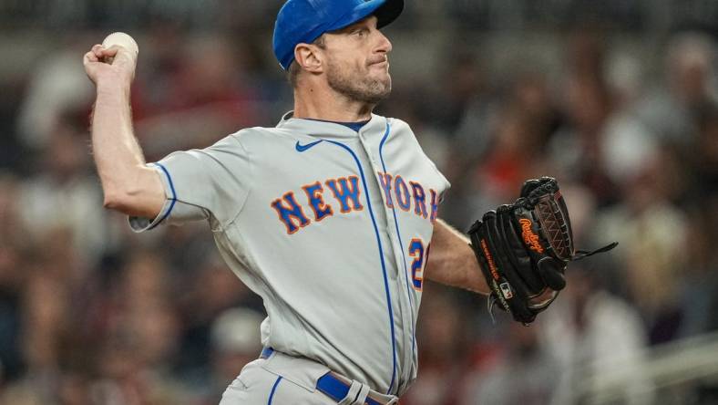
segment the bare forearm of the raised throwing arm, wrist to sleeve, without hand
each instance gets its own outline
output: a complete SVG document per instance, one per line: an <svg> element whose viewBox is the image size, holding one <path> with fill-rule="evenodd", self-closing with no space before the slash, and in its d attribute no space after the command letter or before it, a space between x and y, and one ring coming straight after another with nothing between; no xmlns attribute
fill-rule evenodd
<svg viewBox="0 0 718 405"><path fill-rule="evenodd" d="M105 193L105 206L123 213L151 217L159 201L153 196L157 175L145 167L145 159L132 130L129 87L115 81L97 83L93 111L92 149ZM161 203L159 205L161 207Z"/></svg>

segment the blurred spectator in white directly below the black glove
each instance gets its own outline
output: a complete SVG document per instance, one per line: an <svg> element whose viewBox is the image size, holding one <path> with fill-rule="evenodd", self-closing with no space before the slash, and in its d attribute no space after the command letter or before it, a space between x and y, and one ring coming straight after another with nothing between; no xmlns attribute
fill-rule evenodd
<svg viewBox="0 0 718 405"><path fill-rule="evenodd" d="M590 401L594 379L621 368L628 380L621 403L651 404L651 382L642 374L647 340L641 318L627 303L606 292L597 268L574 264L567 288L539 320L542 345L559 362L551 404Z"/></svg>

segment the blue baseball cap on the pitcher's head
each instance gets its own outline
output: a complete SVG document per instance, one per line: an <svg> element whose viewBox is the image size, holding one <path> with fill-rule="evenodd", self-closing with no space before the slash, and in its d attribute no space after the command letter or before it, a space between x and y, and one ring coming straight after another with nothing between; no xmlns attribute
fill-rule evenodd
<svg viewBox="0 0 718 405"><path fill-rule="evenodd" d="M287 70L297 44L311 44L323 33L376 16L377 27L388 25L404 9L404 0L288 0L274 22L274 56Z"/></svg>

